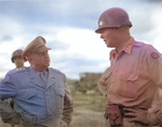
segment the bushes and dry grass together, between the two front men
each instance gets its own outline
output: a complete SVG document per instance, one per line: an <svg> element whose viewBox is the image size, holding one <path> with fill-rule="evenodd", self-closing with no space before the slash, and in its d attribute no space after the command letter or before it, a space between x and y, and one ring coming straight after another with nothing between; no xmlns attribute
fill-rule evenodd
<svg viewBox="0 0 162 127"><path fill-rule="evenodd" d="M109 127L104 118L106 97L97 88L98 78L83 78L68 85L71 90L75 110L70 127Z"/></svg>

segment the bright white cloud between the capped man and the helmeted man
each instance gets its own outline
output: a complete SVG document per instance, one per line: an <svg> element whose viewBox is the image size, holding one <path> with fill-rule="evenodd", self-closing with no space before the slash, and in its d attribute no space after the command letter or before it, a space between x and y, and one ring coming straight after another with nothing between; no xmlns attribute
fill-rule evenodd
<svg viewBox="0 0 162 127"><path fill-rule="evenodd" d="M64 27L59 28L55 39L70 47L62 51L51 50L51 65L69 77L79 78L80 72L104 72L109 65L110 49L93 30ZM103 63L107 64L103 66Z"/></svg>

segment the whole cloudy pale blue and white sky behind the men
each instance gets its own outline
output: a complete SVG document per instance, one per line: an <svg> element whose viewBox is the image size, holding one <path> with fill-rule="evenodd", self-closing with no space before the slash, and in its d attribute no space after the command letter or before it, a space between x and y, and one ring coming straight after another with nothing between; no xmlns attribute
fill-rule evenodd
<svg viewBox="0 0 162 127"><path fill-rule="evenodd" d="M129 13L135 40L162 52L162 0L0 0L0 77L15 67L12 52L25 49L37 36L52 48L50 66L67 78L103 73L112 49L95 30L100 14L113 7Z"/></svg>

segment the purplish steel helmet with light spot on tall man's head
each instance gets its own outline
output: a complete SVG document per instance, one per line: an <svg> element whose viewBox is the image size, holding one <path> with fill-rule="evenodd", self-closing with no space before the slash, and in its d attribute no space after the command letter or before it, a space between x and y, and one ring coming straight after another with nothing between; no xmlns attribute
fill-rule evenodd
<svg viewBox="0 0 162 127"><path fill-rule="evenodd" d="M102 28L120 27L123 25L132 27L132 23L130 22L126 11L121 8L111 8L103 12L98 20L98 29L95 31L100 33Z"/></svg>

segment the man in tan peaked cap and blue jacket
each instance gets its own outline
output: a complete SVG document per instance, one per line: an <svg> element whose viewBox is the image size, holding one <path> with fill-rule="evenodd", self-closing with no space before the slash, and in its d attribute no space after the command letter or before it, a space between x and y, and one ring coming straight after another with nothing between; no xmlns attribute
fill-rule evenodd
<svg viewBox="0 0 162 127"><path fill-rule="evenodd" d="M13 98L18 127L67 127L73 101L65 74L50 66L50 48L41 36L24 50L30 66L11 71L0 82L0 99Z"/></svg>

